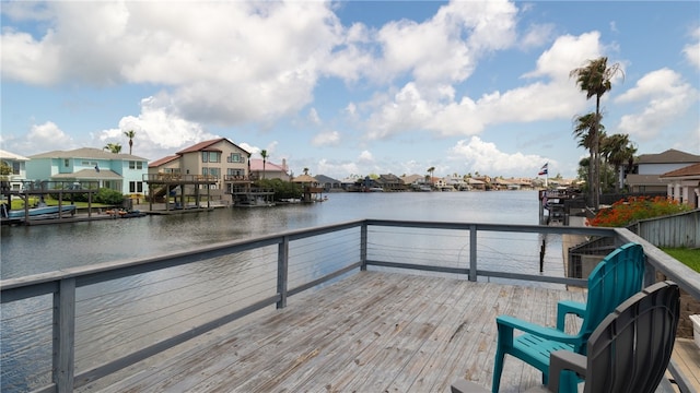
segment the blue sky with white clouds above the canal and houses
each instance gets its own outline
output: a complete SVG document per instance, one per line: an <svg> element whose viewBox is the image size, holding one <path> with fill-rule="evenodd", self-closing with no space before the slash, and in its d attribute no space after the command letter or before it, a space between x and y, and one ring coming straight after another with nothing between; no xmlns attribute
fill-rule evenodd
<svg viewBox="0 0 700 393"><path fill-rule="evenodd" d="M608 57L608 134L700 154L698 1L2 1L0 148L155 160L229 138L290 170L574 177Z"/></svg>

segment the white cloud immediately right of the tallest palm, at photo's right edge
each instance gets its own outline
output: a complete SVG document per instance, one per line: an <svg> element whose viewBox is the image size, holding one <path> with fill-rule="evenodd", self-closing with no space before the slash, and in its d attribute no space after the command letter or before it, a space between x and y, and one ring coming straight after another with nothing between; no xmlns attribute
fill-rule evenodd
<svg viewBox="0 0 700 393"><path fill-rule="evenodd" d="M661 69L642 76L634 87L618 96L616 103L641 103L637 112L625 115L618 130L632 139L648 141L692 105L697 105L698 91L682 81L680 74L669 69Z"/></svg>

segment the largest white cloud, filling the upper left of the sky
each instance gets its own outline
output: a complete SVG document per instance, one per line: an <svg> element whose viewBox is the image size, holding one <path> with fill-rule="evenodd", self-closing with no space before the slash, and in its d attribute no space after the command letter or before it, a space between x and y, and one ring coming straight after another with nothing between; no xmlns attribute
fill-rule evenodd
<svg viewBox="0 0 700 393"><path fill-rule="evenodd" d="M47 7L55 27L43 37L3 33L5 78L168 86L158 105L201 122L270 121L301 109L340 40L339 22L323 2Z"/></svg>

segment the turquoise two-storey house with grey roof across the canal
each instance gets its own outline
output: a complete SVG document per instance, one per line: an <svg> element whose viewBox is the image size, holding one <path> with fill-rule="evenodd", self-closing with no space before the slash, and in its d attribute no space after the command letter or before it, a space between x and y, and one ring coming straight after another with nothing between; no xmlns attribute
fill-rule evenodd
<svg viewBox="0 0 700 393"><path fill-rule="evenodd" d="M26 178L34 181L97 182L125 195L145 191L148 159L94 147L52 151L28 157Z"/></svg>

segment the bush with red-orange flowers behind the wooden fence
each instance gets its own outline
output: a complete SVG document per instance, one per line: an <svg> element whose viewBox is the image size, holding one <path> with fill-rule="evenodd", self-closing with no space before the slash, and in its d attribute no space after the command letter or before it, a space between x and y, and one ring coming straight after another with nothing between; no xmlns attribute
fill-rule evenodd
<svg viewBox="0 0 700 393"><path fill-rule="evenodd" d="M602 227L625 227L645 218L660 217L687 212L690 207L666 196L629 196L615 202L590 219L587 225Z"/></svg>

